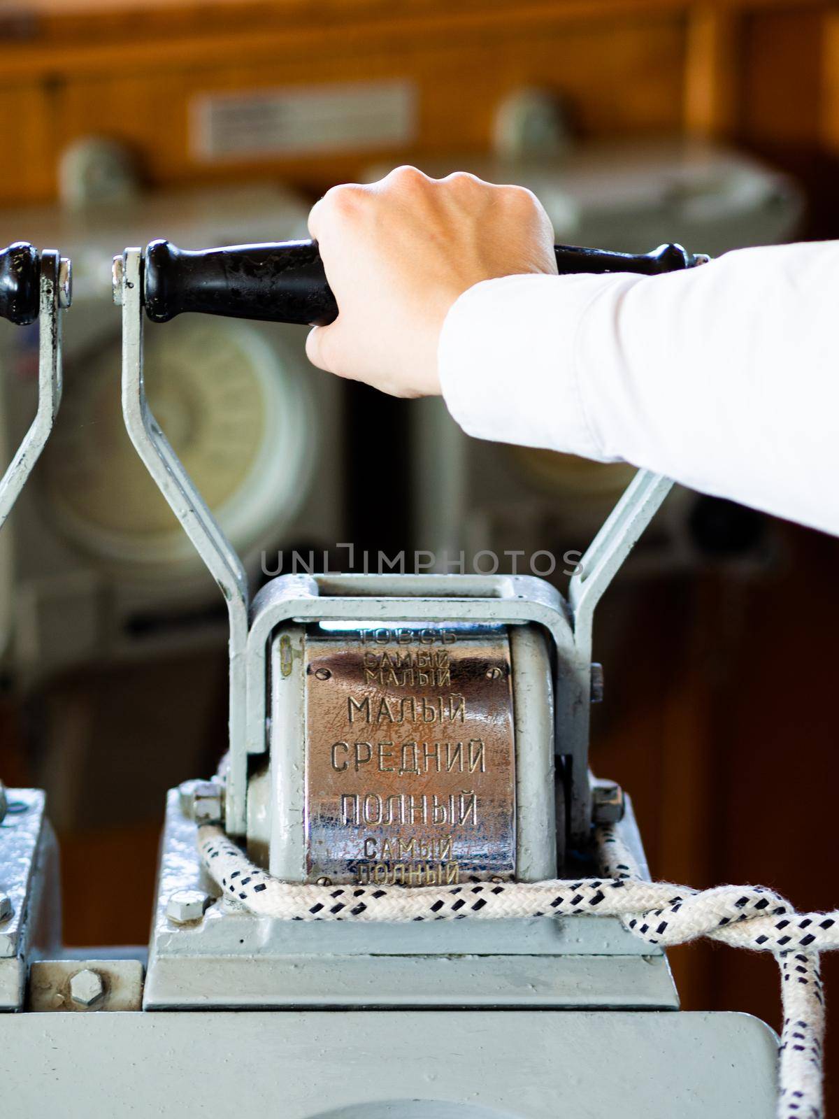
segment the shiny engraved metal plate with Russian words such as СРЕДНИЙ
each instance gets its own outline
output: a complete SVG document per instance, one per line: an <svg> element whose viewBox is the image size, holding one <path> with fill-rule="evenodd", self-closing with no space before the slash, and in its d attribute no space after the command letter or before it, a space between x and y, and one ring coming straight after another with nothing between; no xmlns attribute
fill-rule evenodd
<svg viewBox="0 0 839 1119"><path fill-rule="evenodd" d="M308 638L305 660L308 880L512 877L507 632L355 630Z"/></svg>

